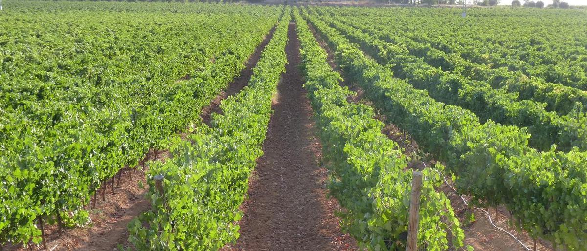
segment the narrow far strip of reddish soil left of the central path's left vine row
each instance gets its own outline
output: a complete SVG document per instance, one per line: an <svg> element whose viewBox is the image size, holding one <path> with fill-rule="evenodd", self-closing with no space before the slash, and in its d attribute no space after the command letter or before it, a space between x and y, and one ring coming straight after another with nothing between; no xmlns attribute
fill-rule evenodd
<svg viewBox="0 0 587 251"><path fill-rule="evenodd" d="M276 27L277 26L274 26L274 28L269 30L269 33L263 38L263 41L255 49L255 53L253 53L253 55L251 55L251 57L249 57L247 60L247 63L245 63L245 69L242 69L241 74L239 74L236 79L232 80L232 82L228 84L228 89L221 91L221 93L218 94L218 96L216 96L208 106L202 109L200 118L202 118L205 124L210 125L212 113L222 114L222 110L220 108L220 103L222 100L237 94L245 86L247 86L249 80L251 80L253 68L255 65L257 65L259 58L261 58L261 52L263 52L263 49L265 49L265 46L269 43L269 40L273 38L273 33L275 32Z"/></svg>

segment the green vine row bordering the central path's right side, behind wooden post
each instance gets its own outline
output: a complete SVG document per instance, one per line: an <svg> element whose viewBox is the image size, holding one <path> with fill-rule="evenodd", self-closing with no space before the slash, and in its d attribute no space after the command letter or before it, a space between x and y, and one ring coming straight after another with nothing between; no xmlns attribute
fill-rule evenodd
<svg viewBox="0 0 587 251"><path fill-rule="evenodd" d="M297 14L297 13L296 13ZM296 15L302 69L323 145L323 158L333 174L331 193L346 209L340 214L345 230L369 250L406 249L411 191L409 162L394 141L382 134L384 124L373 109L349 103L350 91L339 86L340 76L326 62L306 21ZM423 170L420 200L419 246L446 250L450 241L463 246L450 201L434 190L441 181L439 168ZM453 239L448 240L447 233Z"/></svg>

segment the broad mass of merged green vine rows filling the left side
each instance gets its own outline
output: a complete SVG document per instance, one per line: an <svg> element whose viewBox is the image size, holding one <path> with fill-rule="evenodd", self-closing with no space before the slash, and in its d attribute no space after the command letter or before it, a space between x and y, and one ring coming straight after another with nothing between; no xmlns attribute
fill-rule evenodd
<svg viewBox="0 0 587 251"><path fill-rule="evenodd" d="M86 222L82 206L100 184L197 121L281 12L9 6L0 16L0 244L38 242L39 216Z"/></svg>

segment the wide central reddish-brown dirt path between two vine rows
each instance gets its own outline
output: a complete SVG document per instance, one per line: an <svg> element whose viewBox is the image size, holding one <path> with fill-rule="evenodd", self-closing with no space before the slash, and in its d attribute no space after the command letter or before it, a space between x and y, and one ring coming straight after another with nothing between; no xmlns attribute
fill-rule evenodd
<svg viewBox="0 0 587 251"><path fill-rule="evenodd" d="M352 250L341 233L340 210L327 198L328 171L320 167L321 144L313 134L312 109L303 89L299 40L290 23L288 65L278 86L249 199L243 203L240 238L224 250Z"/></svg>

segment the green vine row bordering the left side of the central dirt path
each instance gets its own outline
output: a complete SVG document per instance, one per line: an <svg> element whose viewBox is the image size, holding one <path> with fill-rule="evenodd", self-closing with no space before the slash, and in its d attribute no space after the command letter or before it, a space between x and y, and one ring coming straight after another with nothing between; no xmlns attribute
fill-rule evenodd
<svg viewBox="0 0 587 251"><path fill-rule="evenodd" d="M129 225L139 250L216 250L238 238L238 211L248 178L263 152L272 97L285 72L289 9L262 52L248 86L222 101L211 127L202 124L181 140L173 158L149 169L151 210ZM164 196L153 177L164 175ZM148 226L144 226L146 222Z"/></svg>

